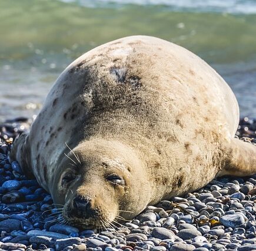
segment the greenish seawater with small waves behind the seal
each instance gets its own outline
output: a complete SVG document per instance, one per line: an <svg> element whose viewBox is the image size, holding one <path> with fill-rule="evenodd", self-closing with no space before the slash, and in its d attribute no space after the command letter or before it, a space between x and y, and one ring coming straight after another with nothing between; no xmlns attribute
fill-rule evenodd
<svg viewBox="0 0 256 251"><path fill-rule="evenodd" d="M36 115L82 53L138 34L201 56L256 118L256 1L0 0L0 122Z"/></svg>

